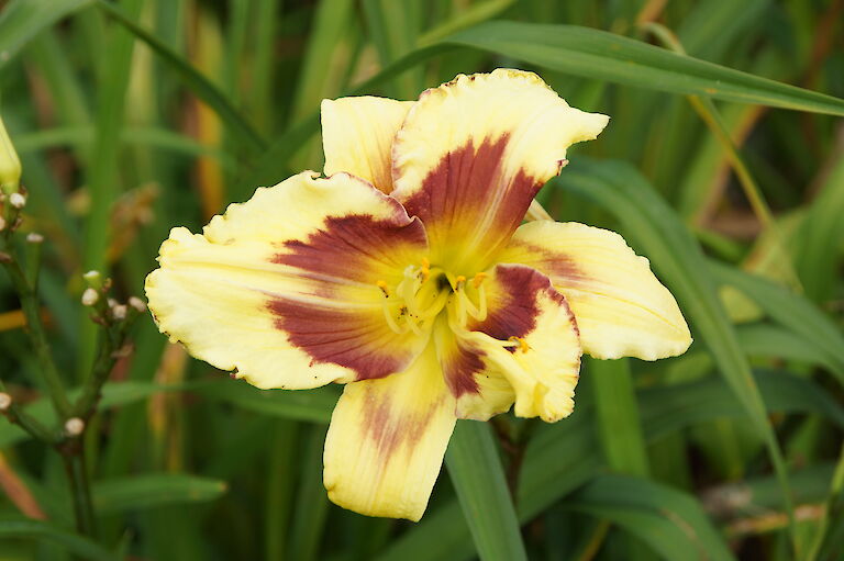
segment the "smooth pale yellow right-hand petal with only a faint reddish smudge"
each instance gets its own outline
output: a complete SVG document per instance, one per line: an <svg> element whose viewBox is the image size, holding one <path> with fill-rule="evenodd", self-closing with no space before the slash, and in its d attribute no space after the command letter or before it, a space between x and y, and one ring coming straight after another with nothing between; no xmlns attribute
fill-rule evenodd
<svg viewBox="0 0 844 561"><path fill-rule="evenodd" d="M601 359L656 360L691 344L677 302L620 235L584 224L532 222L498 257L534 267L565 294L584 351Z"/></svg>

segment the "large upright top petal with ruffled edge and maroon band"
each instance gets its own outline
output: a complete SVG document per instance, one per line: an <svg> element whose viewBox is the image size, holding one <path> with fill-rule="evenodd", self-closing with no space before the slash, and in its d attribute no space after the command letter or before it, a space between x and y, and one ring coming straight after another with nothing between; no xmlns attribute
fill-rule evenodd
<svg viewBox="0 0 844 561"><path fill-rule="evenodd" d="M460 75L410 109L392 148L392 195L425 224L432 263L474 274L510 239L566 148L607 122L532 72Z"/></svg>

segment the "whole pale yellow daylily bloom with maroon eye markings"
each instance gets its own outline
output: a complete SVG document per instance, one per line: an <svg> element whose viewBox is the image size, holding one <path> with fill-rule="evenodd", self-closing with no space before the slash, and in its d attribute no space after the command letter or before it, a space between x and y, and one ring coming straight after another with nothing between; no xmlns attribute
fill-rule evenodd
<svg viewBox="0 0 844 561"><path fill-rule="evenodd" d="M536 75L458 76L419 101L322 103L325 175L174 228L146 280L171 341L264 389L345 383L325 441L336 504L419 520L457 418L568 415L581 352L691 339L618 234L520 225L608 117Z"/></svg>

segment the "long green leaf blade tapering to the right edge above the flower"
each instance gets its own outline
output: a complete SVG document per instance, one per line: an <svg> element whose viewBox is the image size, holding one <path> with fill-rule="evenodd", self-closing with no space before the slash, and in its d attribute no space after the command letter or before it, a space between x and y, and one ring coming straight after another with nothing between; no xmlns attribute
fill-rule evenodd
<svg viewBox="0 0 844 561"><path fill-rule="evenodd" d="M844 100L577 25L488 22L443 40L549 70L671 93L844 115Z"/></svg>

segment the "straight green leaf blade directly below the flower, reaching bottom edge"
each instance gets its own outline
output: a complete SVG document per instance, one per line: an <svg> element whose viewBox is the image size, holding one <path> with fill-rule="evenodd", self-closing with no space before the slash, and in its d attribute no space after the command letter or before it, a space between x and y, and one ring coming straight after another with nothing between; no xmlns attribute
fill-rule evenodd
<svg viewBox="0 0 844 561"><path fill-rule="evenodd" d="M489 425L458 420L445 453L448 475L482 561L528 559Z"/></svg>

